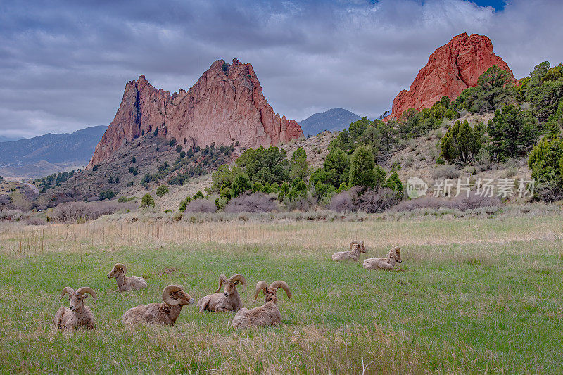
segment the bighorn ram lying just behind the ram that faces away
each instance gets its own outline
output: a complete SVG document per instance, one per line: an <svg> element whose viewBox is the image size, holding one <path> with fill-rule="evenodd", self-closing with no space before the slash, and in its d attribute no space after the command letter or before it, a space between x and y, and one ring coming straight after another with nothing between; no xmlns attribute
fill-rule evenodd
<svg viewBox="0 0 563 375"><path fill-rule="evenodd" d="M236 285L242 284L242 293L246 291L246 279L241 274L233 275L230 279L222 274L219 277L219 288L215 294L205 295L199 300L197 307L199 312L209 311L239 311L242 307L241 297L239 291L236 290ZM224 293L221 291L221 286L224 285Z"/></svg>

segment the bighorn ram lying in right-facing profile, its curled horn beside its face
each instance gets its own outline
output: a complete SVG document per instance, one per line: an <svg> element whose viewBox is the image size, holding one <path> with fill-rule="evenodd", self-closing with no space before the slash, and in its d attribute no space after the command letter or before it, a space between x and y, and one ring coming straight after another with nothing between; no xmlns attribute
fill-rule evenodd
<svg viewBox="0 0 563 375"><path fill-rule="evenodd" d="M194 298L191 298L177 285L169 285L164 288L163 300L164 303L153 302L130 308L121 318L123 324L144 322L172 326L182 312L182 307L194 303Z"/></svg>

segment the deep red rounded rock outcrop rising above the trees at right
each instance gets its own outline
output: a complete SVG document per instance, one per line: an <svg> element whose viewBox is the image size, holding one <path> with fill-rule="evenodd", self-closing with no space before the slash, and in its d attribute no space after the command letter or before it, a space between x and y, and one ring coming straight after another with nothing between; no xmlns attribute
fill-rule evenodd
<svg viewBox="0 0 563 375"><path fill-rule="evenodd" d="M466 33L453 37L430 55L409 91L396 96L390 117L398 118L409 108L429 108L442 96L455 100L464 89L476 86L479 76L493 65L507 70L514 79L507 63L493 52L491 39Z"/></svg>

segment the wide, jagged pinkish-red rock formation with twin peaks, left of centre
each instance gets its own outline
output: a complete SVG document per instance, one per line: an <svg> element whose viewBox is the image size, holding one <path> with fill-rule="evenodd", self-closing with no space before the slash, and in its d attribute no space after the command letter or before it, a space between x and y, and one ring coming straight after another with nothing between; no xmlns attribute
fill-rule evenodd
<svg viewBox="0 0 563 375"><path fill-rule="evenodd" d="M175 138L182 146L230 145L256 148L303 136L294 120L268 104L250 63L217 60L188 91L154 88L144 75L127 82L123 99L87 168L142 134Z"/></svg>

